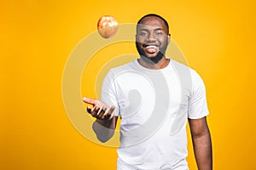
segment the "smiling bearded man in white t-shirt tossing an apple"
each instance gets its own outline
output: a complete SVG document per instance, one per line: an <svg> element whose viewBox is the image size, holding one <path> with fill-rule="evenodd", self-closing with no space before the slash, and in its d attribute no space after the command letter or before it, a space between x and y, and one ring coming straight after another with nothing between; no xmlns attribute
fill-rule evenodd
<svg viewBox="0 0 256 170"><path fill-rule="evenodd" d="M198 74L165 56L169 26L157 14L137 23L140 59L113 68L102 84L102 99L84 98L96 117L97 139L108 141L120 122L118 169L189 169L186 124L200 170L212 169L212 144L204 83Z"/></svg>

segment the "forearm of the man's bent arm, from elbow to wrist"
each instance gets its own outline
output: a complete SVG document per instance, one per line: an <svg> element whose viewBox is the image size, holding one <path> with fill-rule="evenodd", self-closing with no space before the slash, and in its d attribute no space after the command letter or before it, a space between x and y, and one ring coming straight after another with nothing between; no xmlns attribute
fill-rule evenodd
<svg viewBox="0 0 256 170"><path fill-rule="evenodd" d="M96 120L92 124L92 128L96 133L97 139L101 142L107 142L108 139L111 139L116 127L117 117L114 116L111 120Z"/></svg>

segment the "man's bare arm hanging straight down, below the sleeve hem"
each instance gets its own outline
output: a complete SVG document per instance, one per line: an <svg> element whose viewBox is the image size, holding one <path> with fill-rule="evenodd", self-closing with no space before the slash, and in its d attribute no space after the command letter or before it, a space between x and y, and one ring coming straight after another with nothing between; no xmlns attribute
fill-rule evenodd
<svg viewBox="0 0 256 170"><path fill-rule="evenodd" d="M212 170L212 141L207 118L189 119L195 160L199 170Z"/></svg>

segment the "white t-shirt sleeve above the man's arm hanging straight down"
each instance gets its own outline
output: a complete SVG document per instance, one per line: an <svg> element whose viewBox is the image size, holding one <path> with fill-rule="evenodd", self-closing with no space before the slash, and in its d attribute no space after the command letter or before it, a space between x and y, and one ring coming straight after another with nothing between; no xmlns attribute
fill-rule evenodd
<svg viewBox="0 0 256 170"><path fill-rule="evenodd" d="M189 99L189 118L199 119L209 114L205 84L197 72L192 71L192 92Z"/></svg>

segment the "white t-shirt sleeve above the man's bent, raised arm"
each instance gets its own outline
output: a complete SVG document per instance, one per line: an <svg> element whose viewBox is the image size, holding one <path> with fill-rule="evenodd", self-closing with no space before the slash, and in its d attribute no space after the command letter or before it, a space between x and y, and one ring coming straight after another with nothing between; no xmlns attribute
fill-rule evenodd
<svg viewBox="0 0 256 170"><path fill-rule="evenodd" d="M115 106L114 116L119 116L119 104L116 95L113 72L110 70L102 82L101 100L108 106Z"/></svg>

